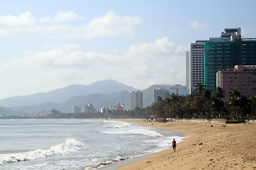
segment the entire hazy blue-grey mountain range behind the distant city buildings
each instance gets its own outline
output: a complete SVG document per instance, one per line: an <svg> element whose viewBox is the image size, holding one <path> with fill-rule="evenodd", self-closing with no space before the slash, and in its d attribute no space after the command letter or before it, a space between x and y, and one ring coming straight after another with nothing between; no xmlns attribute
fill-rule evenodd
<svg viewBox="0 0 256 170"><path fill-rule="evenodd" d="M153 89L171 89L171 93L186 95L188 90L181 85L153 85L143 91L143 104L149 106L153 98ZM32 112L50 111L56 109L63 113L70 113L72 106L87 106L92 104L97 111L102 106L109 107L124 103L129 109L129 92L136 91L118 81L96 81L90 85L70 85L62 89L55 89L46 93L28 96L14 96L0 100L0 115L24 115Z"/></svg>

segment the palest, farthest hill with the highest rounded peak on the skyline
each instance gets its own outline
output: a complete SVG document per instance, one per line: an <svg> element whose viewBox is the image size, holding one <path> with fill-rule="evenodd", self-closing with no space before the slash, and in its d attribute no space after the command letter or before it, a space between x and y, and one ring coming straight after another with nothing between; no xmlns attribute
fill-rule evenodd
<svg viewBox="0 0 256 170"><path fill-rule="evenodd" d="M31 106L40 103L53 102L64 103L75 96L87 96L90 94L111 94L114 91L134 91L132 86L119 83L114 80L97 81L90 85L70 85L61 89L46 93L32 94L28 96L14 96L0 100L2 107Z"/></svg>

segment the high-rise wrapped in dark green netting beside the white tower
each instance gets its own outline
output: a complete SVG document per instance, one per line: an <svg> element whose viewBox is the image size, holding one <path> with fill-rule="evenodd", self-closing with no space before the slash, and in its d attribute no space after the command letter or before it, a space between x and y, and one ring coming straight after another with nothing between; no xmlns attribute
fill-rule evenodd
<svg viewBox="0 0 256 170"><path fill-rule="evenodd" d="M205 42L204 85L216 87L216 72L235 65L256 65L256 39L238 38Z"/></svg>

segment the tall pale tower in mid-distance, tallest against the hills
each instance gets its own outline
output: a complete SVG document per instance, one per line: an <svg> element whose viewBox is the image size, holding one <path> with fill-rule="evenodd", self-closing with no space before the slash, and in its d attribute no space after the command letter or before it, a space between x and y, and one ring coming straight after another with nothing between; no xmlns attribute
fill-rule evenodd
<svg viewBox="0 0 256 170"><path fill-rule="evenodd" d="M129 93L129 110L143 107L143 94L142 91L131 91Z"/></svg>

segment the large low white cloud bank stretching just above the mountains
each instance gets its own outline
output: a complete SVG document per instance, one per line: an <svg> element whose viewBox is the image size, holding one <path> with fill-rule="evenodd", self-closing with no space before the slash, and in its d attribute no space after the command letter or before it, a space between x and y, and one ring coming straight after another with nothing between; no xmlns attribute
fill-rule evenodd
<svg viewBox="0 0 256 170"><path fill-rule="evenodd" d="M186 76L186 49L169 38L131 45L122 54L82 52L80 46L71 44L29 54L0 64L0 77L6 84L18 82L19 87L38 92L116 79L143 89L152 84L182 84Z"/></svg>

